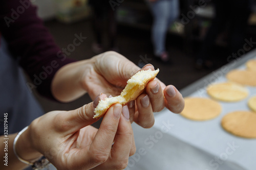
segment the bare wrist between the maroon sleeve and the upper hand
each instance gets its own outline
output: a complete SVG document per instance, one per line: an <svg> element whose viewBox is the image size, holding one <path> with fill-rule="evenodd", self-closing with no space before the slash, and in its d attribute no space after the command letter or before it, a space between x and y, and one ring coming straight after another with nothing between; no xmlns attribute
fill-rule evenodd
<svg viewBox="0 0 256 170"><path fill-rule="evenodd" d="M51 84L54 98L60 102L71 102L85 94L87 91L83 79L93 69L94 61L91 58L61 67Z"/></svg>

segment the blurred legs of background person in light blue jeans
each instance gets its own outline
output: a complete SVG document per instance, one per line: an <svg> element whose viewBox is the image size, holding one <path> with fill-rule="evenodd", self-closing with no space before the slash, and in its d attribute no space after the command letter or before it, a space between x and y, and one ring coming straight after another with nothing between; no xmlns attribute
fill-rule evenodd
<svg viewBox="0 0 256 170"><path fill-rule="evenodd" d="M165 41L168 28L179 15L178 0L146 0L152 11L154 22L152 27L152 42L155 57L170 63Z"/></svg>

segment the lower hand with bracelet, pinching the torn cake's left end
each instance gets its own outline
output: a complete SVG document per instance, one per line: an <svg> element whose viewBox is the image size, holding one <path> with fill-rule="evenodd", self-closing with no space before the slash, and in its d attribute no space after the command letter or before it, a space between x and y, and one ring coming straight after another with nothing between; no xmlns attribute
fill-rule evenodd
<svg viewBox="0 0 256 170"><path fill-rule="evenodd" d="M57 169L124 169L136 151L127 106L113 105L99 129L90 126L97 121L94 108L104 98L106 95L100 94L79 109L52 111L35 119L25 131L32 148ZM19 151L18 155L26 159L26 154Z"/></svg>

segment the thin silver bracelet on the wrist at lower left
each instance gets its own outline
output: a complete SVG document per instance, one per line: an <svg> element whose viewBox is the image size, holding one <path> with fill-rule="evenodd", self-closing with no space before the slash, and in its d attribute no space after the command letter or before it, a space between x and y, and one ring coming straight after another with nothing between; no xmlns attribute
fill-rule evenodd
<svg viewBox="0 0 256 170"><path fill-rule="evenodd" d="M39 160L37 160L37 161L35 161L35 162L32 163L32 162L29 162L29 161L26 161L26 160L20 158L20 157L18 156L18 154L16 153L16 148L15 148L15 147L16 147L16 142L17 142L19 136L20 136L23 132L25 132L25 131L28 129L28 127L29 127L29 126L27 126L27 127L24 128L22 131L20 131L20 132L17 134L17 136L15 137L15 139L14 139L14 141L13 141L13 152L14 152L14 154L16 155L16 157L18 158L19 161L21 161L21 162L23 162L23 163L26 163L26 164L28 164L28 165L30 165L30 166L32 166L33 169L42 169L42 168L48 167L49 164L50 164L50 162L49 162L49 161L47 160L47 158L44 157L44 156L42 156Z"/></svg>

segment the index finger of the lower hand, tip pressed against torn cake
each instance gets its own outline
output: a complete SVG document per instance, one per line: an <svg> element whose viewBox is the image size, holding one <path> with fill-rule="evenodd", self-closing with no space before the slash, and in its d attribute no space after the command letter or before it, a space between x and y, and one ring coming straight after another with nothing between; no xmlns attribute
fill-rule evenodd
<svg viewBox="0 0 256 170"><path fill-rule="evenodd" d="M121 115L122 105L111 106L104 115L100 128L90 146L92 162L101 164L109 158Z"/></svg>

